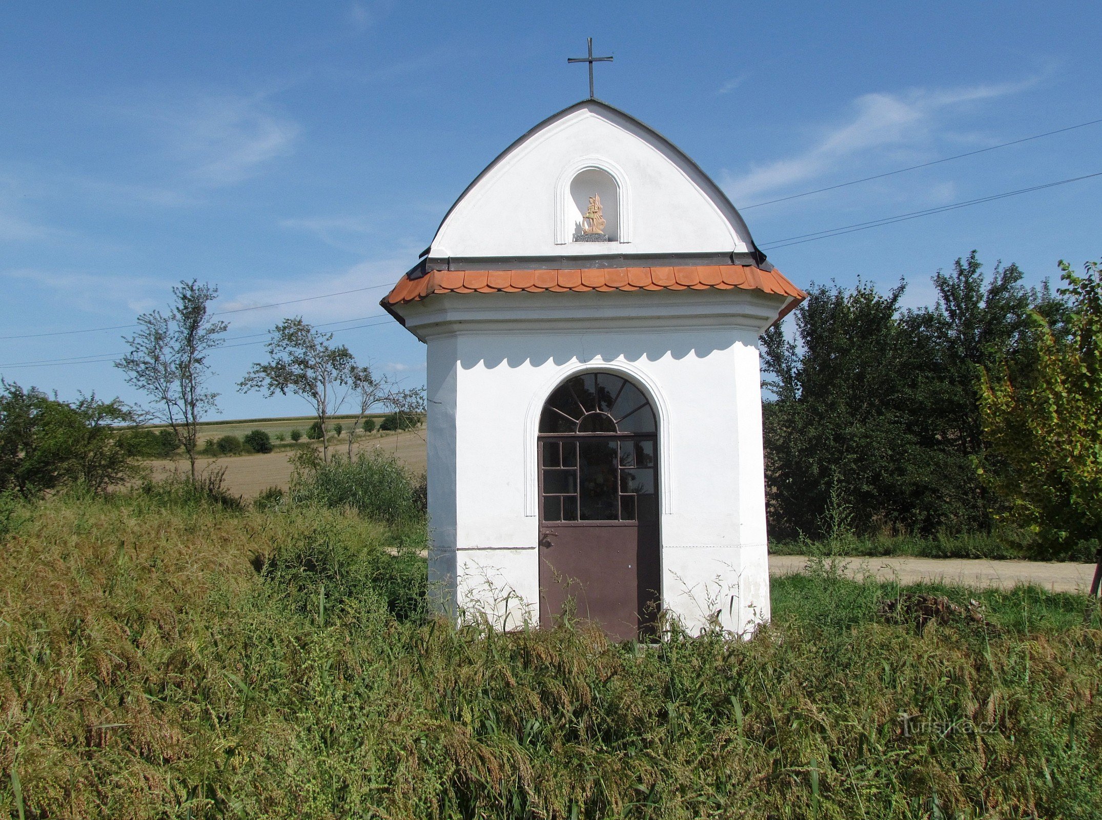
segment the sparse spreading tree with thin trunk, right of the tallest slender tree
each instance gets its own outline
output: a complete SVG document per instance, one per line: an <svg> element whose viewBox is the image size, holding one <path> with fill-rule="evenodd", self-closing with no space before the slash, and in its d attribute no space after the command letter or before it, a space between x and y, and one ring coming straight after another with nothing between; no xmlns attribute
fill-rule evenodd
<svg viewBox="0 0 1102 820"><path fill-rule="evenodd" d="M271 333L264 344L268 362L255 363L238 389L261 390L267 397L293 393L310 402L322 429L322 460L327 462L326 424L348 395L356 359L344 345L329 345L332 333L315 331L302 316L284 319Z"/></svg>

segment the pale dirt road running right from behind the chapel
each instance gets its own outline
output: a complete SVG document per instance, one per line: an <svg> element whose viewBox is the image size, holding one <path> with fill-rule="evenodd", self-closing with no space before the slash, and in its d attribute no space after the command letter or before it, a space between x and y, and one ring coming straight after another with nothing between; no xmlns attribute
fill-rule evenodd
<svg viewBox="0 0 1102 820"><path fill-rule="evenodd" d="M954 558L843 558L846 574L863 576L871 573L903 583L933 581L965 586L1000 586L1036 584L1052 592L1081 592L1091 587L1094 564L1055 561L986 561ZM807 564L806 555L769 555L769 574L787 575Z"/></svg>

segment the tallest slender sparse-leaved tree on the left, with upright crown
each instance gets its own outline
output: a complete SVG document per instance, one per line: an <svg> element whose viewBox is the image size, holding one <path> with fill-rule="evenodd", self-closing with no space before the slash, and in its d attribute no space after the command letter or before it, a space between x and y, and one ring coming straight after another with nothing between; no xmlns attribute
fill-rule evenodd
<svg viewBox="0 0 1102 820"><path fill-rule="evenodd" d="M152 399L150 418L171 428L187 453L195 481L199 418L217 410L218 393L206 389L210 378L207 354L222 346L229 325L212 317L210 302L218 289L184 280L172 289L174 303L168 315L160 311L138 316L140 330L123 341L129 353L115 363L127 374L127 384Z"/></svg>

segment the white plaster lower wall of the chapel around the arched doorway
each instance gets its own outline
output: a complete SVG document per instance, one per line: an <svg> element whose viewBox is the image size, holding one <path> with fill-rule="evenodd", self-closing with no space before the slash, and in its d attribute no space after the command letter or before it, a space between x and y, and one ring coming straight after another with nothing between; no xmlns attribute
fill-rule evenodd
<svg viewBox="0 0 1102 820"><path fill-rule="evenodd" d="M441 602L507 628L538 618L536 420L562 379L602 369L650 393L659 417L667 609L694 632L712 617L739 633L768 618L755 345L782 300L699 293L453 294L403 308L429 346Z"/></svg>

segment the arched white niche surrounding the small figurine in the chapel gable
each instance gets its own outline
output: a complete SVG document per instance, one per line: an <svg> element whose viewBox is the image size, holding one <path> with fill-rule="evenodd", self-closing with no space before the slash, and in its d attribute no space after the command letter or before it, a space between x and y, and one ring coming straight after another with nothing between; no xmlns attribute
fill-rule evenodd
<svg viewBox="0 0 1102 820"><path fill-rule="evenodd" d="M623 169L603 157L583 157L564 168L555 183L557 245L575 242L594 194L601 196L608 241L620 245L631 241L631 195ZM592 252L599 252L599 247L595 244Z"/></svg>

